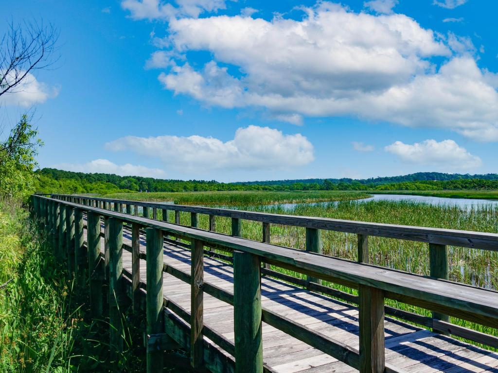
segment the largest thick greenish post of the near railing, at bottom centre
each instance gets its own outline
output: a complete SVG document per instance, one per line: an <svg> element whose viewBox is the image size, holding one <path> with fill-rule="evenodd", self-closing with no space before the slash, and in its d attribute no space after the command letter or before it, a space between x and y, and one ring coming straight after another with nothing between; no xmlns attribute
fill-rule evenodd
<svg viewBox="0 0 498 373"><path fill-rule="evenodd" d="M259 257L234 252L236 373L263 372L260 266Z"/></svg>

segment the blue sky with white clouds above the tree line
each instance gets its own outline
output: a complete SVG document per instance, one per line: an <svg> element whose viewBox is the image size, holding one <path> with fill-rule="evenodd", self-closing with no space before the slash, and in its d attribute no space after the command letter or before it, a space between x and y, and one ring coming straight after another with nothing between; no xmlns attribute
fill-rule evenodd
<svg viewBox="0 0 498 373"><path fill-rule="evenodd" d="M18 0L60 59L40 167L166 179L496 173L496 1Z"/></svg>

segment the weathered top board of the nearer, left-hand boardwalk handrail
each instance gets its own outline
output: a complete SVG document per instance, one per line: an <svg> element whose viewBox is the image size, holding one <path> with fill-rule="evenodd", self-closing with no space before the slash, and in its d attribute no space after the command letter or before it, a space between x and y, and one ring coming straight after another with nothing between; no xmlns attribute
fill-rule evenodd
<svg viewBox="0 0 498 373"><path fill-rule="evenodd" d="M466 315L480 315L480 320L492 318L492 325L498 325L498 296L494 291L469 287L467 285L445 280L434 280L420 275L390 270L372 265L350 262L306 251L284 248L267 243L251 241L240 237L185 227L159 220L110 211L78 203L51 199L75 208L93 211L103 216L116 217L144 227L157 228L189 239L249 252L266 258L270 262L289 265L302 273L313 274L323 279L339 279L347 282L368 285L389 293L412 297L432 304L444 306L456 311L465 311ZM462 318L467 318L463 316ZM484 322L489 324L490 322ZM495 326L496 327L496 326Z"/></svg>

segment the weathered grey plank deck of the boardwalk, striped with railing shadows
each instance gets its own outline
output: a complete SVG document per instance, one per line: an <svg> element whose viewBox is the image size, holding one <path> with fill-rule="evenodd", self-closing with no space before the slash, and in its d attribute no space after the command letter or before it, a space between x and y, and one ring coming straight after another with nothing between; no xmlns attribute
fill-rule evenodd
<svg viewBox="0 0 498 373"><path fill-rule="evenodd" d="M131 245L129 231L124 231L123 242ZM140 245L143 251L144 237L141 237ZM101 240L101 250L104 252L104 239ZM190 274L190 250L182 246L165 242L164 262ZM131 272L131 254L127 251L123 252L123 267ZM140 280L143 282L145 274L146 264L141 260ZM204 282L233 292L233 267L221 260L205 257ZM190 312L190 284L165 273L163 289L164 297ZM359 348L356 306L269 277L261 279L261 295L263 307L355 349ZM204 294L204 324L232 342L233 315L230 304ZM396 367L398 371L498 373L498 354L491 351L388 317L385 318L384 332L386 364ZM265 323L262 336L263 361L270 372L356 372L337 359ZM213 344L207 337L204 338Z"/></svg>

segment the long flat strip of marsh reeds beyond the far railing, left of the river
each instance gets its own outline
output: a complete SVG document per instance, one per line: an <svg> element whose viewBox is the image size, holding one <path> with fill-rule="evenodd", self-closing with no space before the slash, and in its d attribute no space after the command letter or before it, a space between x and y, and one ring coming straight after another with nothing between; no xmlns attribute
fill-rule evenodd
<svg viewBox="0 0 498 373"><path fill-rule="evenodd" d="M106 198L136 201L173 201L176 204L206 206L241 206L274 203L305 203L321 201L343 201L367 198L370 195L359 191L208 191L208 192L155 192L155 193L111 193Z"/></svg>

